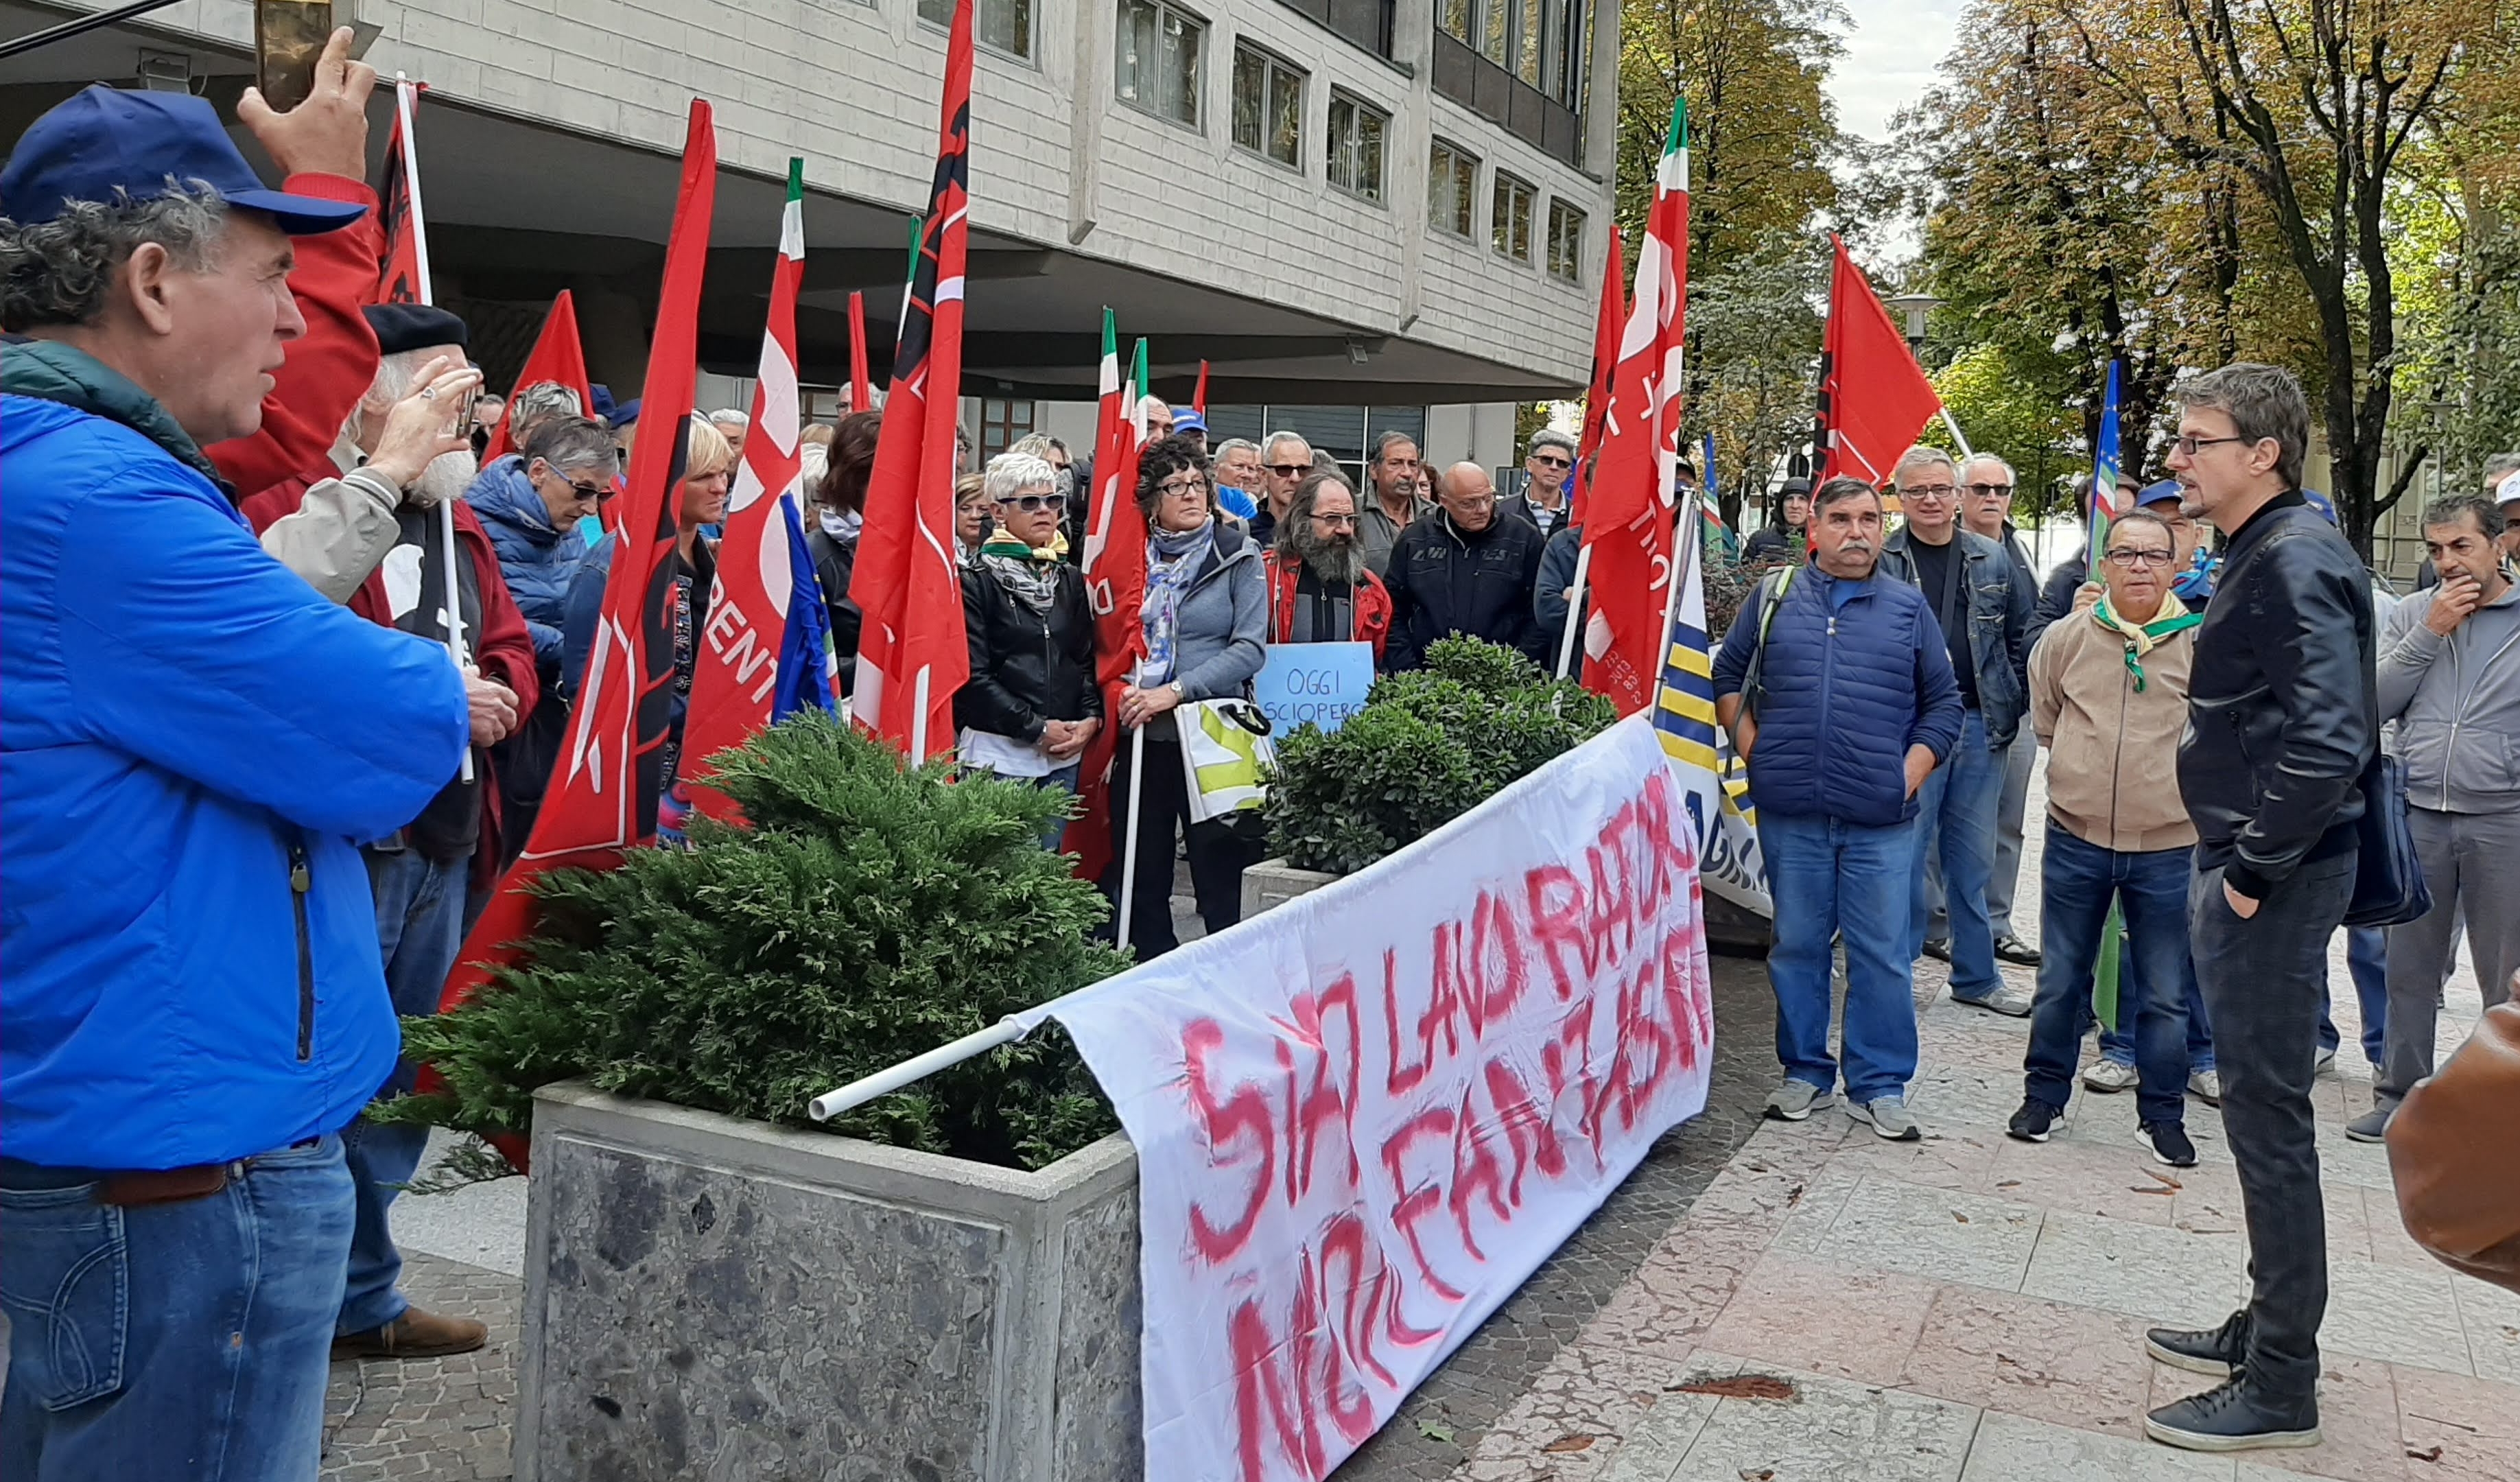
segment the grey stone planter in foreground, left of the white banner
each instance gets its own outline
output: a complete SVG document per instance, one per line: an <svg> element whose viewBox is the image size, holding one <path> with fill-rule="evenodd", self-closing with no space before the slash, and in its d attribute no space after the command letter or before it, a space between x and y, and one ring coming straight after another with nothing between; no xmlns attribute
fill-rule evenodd
<svg viewBox="0 0 2520 1482"><path fill-rule="evenodd" d="M534 1096L517 1477L1142 1477L1137 1154Z"/></svg>

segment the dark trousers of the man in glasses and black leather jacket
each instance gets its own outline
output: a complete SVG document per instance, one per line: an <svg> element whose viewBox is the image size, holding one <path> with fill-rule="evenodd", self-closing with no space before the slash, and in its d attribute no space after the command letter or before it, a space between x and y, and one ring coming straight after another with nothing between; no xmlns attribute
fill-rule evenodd
<svg viewBox="0 0 2520 1482"><path fill-rule="evenodd" d="M2240 1167L2248 1222L2248 1376L2278 1401L2318 1386L2318 1323L2328 1311L2328 1225L2318 1200L2311 1084L2328 938L2354 897L2354 854L2298 864L2240 920L2223 870L2187 897L2197 983L2223 1069L2223 1132Z"/></svg>

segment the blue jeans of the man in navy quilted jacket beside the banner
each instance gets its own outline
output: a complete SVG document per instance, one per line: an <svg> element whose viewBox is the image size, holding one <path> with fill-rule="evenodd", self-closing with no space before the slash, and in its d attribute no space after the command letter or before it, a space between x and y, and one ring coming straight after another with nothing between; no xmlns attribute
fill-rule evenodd
<svg viewBox="0 0 2520 1482"><path fill-rule="evenodd" d="M1777 945L1767 980L1777 991L1777 1059L1794 1081L1837 1089L1830 1059L1830 938L1847 943L1847 1099L1905 1096L1915 1079L1915 953L1908 870L1915 822L1867 829L1840 819L1759 809Z"/></svg>

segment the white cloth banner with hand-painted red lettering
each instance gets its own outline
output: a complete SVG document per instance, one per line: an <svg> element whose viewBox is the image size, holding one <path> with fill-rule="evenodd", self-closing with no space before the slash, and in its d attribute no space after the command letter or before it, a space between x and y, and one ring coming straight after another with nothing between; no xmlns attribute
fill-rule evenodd
<svg viewBox="0 0 2520 1482"><path fill-rule="evenodd" d="M1635 716L1058 1006L1137 1144L1147 1477L1328 1477L1706 1106L1678 794Z"/></svg>

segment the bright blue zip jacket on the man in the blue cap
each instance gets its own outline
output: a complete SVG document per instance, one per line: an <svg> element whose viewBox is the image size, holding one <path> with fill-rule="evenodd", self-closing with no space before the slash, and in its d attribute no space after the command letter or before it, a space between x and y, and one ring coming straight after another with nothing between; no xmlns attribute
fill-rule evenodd
<svg viewBox="0 0 2520 1482"><path fill-rule="evenodd" d="M353 839L454 776L464 681L267 557L131 381L38 343L0 391L8 1154L340 1132L401 1048Z"/></svg>

